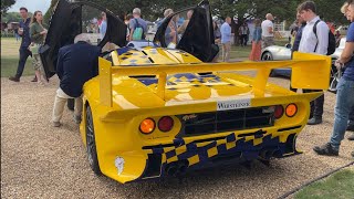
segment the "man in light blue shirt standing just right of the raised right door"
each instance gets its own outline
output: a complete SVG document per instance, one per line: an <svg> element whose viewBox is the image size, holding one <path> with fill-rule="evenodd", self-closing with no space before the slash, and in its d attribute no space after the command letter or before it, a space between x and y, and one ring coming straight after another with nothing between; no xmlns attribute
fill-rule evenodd
<svg viewBox="0 0 354 199"><path fill-rule="evenodd" d="M235 35L231 33L231 18L227 17L223 24L220 28L221 32L221 45L222 45L222 61L228 62L230 60L231 39Z"/></svg>

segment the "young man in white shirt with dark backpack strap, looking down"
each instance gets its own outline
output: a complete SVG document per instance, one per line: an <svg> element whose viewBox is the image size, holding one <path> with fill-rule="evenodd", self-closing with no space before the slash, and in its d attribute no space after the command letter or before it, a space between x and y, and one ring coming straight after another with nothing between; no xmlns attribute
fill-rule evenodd
<svg viewBox="0 0 354 199"><path fill-rule="evenodd" d="M306 21L306 25L302 31L299 52L327 54L329 46L329 27L321 21L316 14L316 7L313 1L305 1L298 7L301 18ZM319 21L320 20L320 21ZM319 21L319 22L317 22ZM313 27L316 23L316 34ZM309 65L310 67L310 65ZM321 90L304 90L304 93L321 92ZM311 102L310 119L308 125L316 125L322 123L324 95L321 95Z"/></svg>

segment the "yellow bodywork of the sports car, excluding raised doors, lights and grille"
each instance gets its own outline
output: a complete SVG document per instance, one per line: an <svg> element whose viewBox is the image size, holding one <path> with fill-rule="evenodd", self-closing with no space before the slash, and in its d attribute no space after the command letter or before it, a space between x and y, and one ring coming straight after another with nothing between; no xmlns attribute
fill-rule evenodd
<svg viewBox="0 0 354 199"><path fill-rule="evenodd" d="M270 84L270 71L291 67L293 87L326 90L331 67L329 56L298 52L290 61L236 63L202 63L183 51L154 48L119 55L114 51L111 56L112 62L100 57L100 75L84 85L85 107L80 129L86 144L85 112L90 105L101 171L123 184L163 176L163 168L181 159L187 160L189 167L202 165L200 163L206 158L217 157L221 148L222 151L231 151L241 143L251 144L256 148L266 140L287 143L290 135L296 136L305 126L310 102L322 92L298 94ZM256 71L257 75L241 75L237 73L239 71ZM197 73L206 72L212 72L212 75L198 77ZM147 84L138 81L138 75L156 75L156 81ZM293 117L284 115L269 127L179 136L183 125L179 115L188 119L198 113L232 109L231 106L223 107L228 103L240 106L235 108L273 105L285 108L288 104L294 103L298 113ZM173 117L174 128L170 132L164 133L158 128L149 135L139 132L143 119L153 118L157 122L162 116ZM264 134L250 134L257 130ZM296 153L294 149L282 156ZM144 177L154 154L162 158L162 170ZM121 171L115 165L117 157L124 159Z"/></svg>

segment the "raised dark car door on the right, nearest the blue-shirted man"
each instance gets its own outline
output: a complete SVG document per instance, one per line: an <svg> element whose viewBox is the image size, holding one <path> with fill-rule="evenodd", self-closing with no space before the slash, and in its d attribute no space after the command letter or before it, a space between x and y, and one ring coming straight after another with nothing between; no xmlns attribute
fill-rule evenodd
<svg viewBox="0 0 354 199"><path fill-rule="evenodd" d="M180 31L190 11L191 18L185 30ZM174 29L177 33L174 33ZM209 2L202 1L197 7L167 17L158 27L154 42L163 48L184 50L202 62L211 62L219 48L215 44Z"/></svg>

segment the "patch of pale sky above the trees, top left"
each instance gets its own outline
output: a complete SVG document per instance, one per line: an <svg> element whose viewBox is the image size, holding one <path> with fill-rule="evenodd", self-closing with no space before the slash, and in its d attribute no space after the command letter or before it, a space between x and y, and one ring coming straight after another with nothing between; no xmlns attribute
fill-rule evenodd
<svg viewBox="0 0 354 199"><path fill-rule="evenodd" d="M34 12L37 10L46 12L51 6L51 0L17 0L15 3L8 10L8 12L19 12L21 7L25 7L29 12Z"/></svg>

